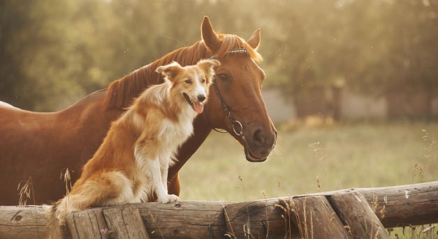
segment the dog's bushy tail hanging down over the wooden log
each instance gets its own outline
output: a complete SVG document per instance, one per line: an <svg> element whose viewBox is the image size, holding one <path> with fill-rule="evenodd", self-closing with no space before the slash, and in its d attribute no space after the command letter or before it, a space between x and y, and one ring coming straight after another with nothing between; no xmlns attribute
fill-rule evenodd
<svg viewBox="0 0 438 239"><path fill-rule="evenodd" d="M48 218L48 239L62 239L66 231L66 217L71 213L68 198L65 196L52 205L44 206L45 215Z"/></svg>

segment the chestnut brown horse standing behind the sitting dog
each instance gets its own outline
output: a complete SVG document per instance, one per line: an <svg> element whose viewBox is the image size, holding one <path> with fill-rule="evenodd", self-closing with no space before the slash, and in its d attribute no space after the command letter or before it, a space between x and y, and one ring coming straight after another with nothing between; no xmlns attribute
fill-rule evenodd
<svg viewBox="0 0 438 239"><path fill-rule="evenodd" d="M170 194L180 194L178 171L199 148L212 128L228 131L244 148L247 160L263 162L275 146L277 131L261 97L265 74L256 61L260 30L246 42L238 36L217 34L207 17L201 25L202 40L182 47L135 70L63 111L36 113L0 105L0 205L17 205L17 185L31 177L34 198L30 203L55 201L66 194L59 180L66 168L80 176L82 166L101 144L110 123L152 84L163 82L155 72L160 65L177 61L193 65L215 58L214 90L203 116L194 121L194 135L181 148L177 163L168 172Z"/></svg>

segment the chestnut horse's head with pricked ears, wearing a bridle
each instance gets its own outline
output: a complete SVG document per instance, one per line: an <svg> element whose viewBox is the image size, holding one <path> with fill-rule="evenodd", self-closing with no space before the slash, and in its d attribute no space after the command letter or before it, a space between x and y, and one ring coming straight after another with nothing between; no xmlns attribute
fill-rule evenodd
<svg viewBox="0 0 438 239"><path fill-rule="evenodd" d="M205 121L212 128L228 131L244 147L247 160L263 162L277 140L277 130L268 116L261 88L265 73L256 61L260 29L246 42L238 36L214 32L205 17L201 26L203 43L221 65L210 89Z"/></svg>

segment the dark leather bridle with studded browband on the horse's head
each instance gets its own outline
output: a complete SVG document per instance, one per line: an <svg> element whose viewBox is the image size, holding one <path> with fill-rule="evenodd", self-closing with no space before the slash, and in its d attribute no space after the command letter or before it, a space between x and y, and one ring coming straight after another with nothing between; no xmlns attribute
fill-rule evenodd
<svg viewBox="0 0 438 239"><path fill-rule="evenodd" d="M248 53L247 53L247 50L246 50L246 49L232 49L230 52L228 52L228 54L248 54ZM213 55L212 57L210 57L210 59L215 59L215 58L217 58L216 55ZM243 141L245 141L245 139L244 139L244 135L243 135L243 126L242 126L242 123L240 123L240 121L236 120L236 119L233 117L233 114L231 114L231 111L230 111L230 109L228 109L228 106L226 105L225 100L224 100L224 98L222 97L222 94L221 94L221 92L219 91L219 87L217 87L217 84L216 84L215 81L212 83L212 86L213 86L213 88L214 88L214 92L215 92L216 95L217 95L217 98L219 99L219 103L221 104L221 107L224 109L226 116L228 117L228 119L229 119L230 122L231 122L231 125L233 125L233 131L234 131L234 133L235 133L238 137L241 137ZM228 132L228 131L226 131L226 130L219 130L219 129L217 129L217 128L214 128L214 127L212 126L212 123L211 123L211 121L210 121L210 118L208 118L208 117L206 116L206 114L203 114L203 115L204 115L205 121L207 121L207 123L210 125L210 127L211 127L214 131L216 131L216 132L220 132L220 133L227 133L227 132Z"/></svg>

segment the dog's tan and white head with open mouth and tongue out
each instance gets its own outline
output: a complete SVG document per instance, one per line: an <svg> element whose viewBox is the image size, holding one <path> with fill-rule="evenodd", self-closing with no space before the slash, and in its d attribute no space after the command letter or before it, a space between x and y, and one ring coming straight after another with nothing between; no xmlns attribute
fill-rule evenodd
<svg viewBox="0 0 438 239"><path fill-rule="evenodd" d="M213 68L218 65L220 65L219 61L214 59L200 60L196 65L184 67L174 61L156 68L156 72L161 72L170 82L171 94L181 95L196 113L201 114L213 82Z"/></svg>

